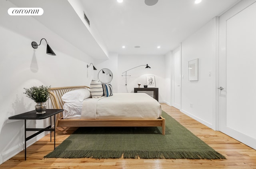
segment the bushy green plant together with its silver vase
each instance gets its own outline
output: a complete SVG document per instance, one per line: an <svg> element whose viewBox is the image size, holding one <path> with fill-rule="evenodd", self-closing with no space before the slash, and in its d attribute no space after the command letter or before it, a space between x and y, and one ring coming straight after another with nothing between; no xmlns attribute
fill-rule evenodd
<svg viewBox="0 0 256 169"><path fill-rule="evenodd" d="M51 86L41 85L39 87L33 86L29 89L24 88L26 96L36 102L35 109L37 114L46 113L46 101L50 97L49 92Z"/></svg>

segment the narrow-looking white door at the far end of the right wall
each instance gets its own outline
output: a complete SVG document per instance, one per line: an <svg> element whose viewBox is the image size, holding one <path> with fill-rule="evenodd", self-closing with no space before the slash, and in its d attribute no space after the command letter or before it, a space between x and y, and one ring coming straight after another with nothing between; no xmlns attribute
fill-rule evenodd
<svg viewBox="0 0 256 169"><path fill-rule="evenodd" d="M180 109L180 93L181 93L181 71L180 71L180 48L173 51L173 107Z"/></svg>

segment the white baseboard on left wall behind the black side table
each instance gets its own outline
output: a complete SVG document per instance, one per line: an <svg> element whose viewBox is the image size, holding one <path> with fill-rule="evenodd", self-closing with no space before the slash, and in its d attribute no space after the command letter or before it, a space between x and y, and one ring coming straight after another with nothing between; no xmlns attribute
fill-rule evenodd
<svg viewBox="0 0 256 169"><path fill-rule="evenodd" d="M26 142L27 147L29 147L30 145L34 144L36 141L42 139L48 133L50 133L50 131L40 133L36 137L28 140ZM16 145L16 146L11 147L8 150L4 151L2 154L0 154L0 164L4 163L5 161L7 161L8 159L12 158L14 155L20 153L23 150L24 150L24 143L22 143L20 145ZM24 156L24 158L25 158L25 156Z"/></svg>

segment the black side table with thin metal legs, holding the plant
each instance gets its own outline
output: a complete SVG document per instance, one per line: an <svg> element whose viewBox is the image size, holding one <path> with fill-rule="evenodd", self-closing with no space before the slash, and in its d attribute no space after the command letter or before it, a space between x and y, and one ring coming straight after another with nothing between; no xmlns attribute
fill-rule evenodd
<svg viewBox="0 0 256 169"><path fill-rule="evenodd" d="M24 120L25 123L25 160L26 160L26 141L32 139L33 137L37 136L38 134L44 132L44 131L54 131L54 149L55 149L55 115L64 111L63 109L46 109L46 113L44 114L36 114L36 110L28 111L26 113L18 114L9 117L9 119L13 120ZM52 116L54 116L54 128L52 128ZM40 119L46 119L50 117L50 125L48 127L45 127L44 129L39 128L26 128L26 120L40 120ZM26 137L26 131L38 131L29 137ZM52 141L52 134L51 134L51 141Z"/></svg>

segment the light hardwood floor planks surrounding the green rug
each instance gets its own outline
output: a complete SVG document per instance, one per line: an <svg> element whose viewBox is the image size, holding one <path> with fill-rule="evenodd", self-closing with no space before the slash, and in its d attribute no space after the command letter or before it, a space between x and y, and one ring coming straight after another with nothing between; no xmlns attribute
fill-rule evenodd
<svg viewBox="0 0 256 169"><path fill-rule="evenodd" d="M206 127L174 107L162 104L162 109L227 159L44 159L54 146L48 134L27 148L26 161L22 151L0 165L0 169L256 169L256 150ZM58 127L56 145L74 130L76 128Z"/></svg>

